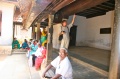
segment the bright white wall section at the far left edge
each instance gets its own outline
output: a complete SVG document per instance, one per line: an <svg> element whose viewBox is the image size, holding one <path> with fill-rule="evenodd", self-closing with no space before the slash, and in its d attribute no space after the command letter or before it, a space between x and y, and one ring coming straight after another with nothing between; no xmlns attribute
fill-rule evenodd
<svg viewBox="0 0 120 79"><path fill-rule="evenodd" d="M0 45L11 45L13 39L14 5L0 2L0 10L2 10Z"/></svg>

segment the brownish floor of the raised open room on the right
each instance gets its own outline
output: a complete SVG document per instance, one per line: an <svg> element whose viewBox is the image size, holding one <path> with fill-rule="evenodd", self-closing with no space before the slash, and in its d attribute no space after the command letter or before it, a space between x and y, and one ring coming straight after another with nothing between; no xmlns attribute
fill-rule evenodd
<svg viewBox="0 0 120 79"><path fill-rule="evenodd" d="M105 71L109 70L110 51L92 47L70 47L71 56L94 65Z"/></svg>

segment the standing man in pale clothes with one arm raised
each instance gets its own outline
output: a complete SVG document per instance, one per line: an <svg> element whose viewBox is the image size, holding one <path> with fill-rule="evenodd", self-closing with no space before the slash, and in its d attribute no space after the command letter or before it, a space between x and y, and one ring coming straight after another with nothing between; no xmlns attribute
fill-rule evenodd
<svg viewBox="0 0 120 79"><path fill-rule="evenodd" d="M76 15L73 16L72 22L69 25L67 25L66 20L62 21L61 33L59 34L59 35L63 35L63 38L61 40L61 46L60 46L61 48L64 47L68 49L69 41L70 41L69 32L70 32L70 28L73 26L75 17Z"/></svg>

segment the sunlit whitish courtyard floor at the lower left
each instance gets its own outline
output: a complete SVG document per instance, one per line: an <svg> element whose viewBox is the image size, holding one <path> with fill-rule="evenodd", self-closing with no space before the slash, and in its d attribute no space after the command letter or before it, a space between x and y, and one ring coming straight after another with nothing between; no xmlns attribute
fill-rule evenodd
<svg viewBox="0 0 120 79"><path fill-rule="evenodd" d="M0 55L0 79L40 79L38 71L29 67L25 54Z"/></svg>

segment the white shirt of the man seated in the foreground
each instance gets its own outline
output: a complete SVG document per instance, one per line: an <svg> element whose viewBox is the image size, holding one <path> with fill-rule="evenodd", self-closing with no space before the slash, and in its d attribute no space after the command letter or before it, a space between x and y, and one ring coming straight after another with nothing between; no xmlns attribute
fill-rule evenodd
<svg viewBox="0 0 120 79"><path fill-rule="evenodd" d="M73 79L73 70L68 57L65 57L60 63L59 62L60 56L58 56L51 62L51 65L56 68L55 74L60 74L62 76L62 79Z"/></svg>

